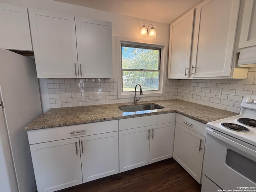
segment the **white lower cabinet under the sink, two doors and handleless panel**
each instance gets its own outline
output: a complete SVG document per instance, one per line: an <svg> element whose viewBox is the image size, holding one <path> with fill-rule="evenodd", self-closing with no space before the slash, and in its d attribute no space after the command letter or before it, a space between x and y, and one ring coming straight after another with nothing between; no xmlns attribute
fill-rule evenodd
<svg viewBox="0 0 256 192"><path fill-rule="evenodd" d="M171 158L175 113L119 120L120 172Z"/></svg>

